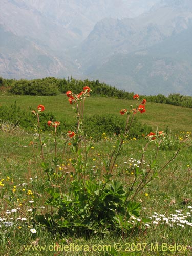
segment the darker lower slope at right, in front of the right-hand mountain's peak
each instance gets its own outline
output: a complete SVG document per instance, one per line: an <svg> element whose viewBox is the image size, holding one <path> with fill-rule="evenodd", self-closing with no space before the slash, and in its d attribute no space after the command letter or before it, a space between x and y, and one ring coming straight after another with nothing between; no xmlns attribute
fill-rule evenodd
<svg viewBox="0 0 192 256"><path fill-rule="evenodd" d="M191 42L192 23L155 46L130 54L115 54L89 76L142 94L192 95Z"/></svg>

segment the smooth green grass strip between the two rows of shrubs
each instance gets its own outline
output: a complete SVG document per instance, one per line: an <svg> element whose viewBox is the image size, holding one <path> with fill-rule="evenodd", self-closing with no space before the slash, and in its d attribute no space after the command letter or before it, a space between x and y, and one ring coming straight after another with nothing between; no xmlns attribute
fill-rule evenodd
<svg viewBox="0 0 192 256"><path fill-rule="evenodd" d="M67 97L65 95L57 96L7 96L0 95L2 106L10 106L16 101L20 108L36 109L37 105L45 106L46 111L52 112L58 120L62 120L63 116L74 118L75 114L69 107ZM122 108L130 108L134 105L134 101L121 100L105 97L90 97L86 102L86 115L93 114L114 114L119 116ZM123 118L123 117L122 117ZM183 108L167 104L147 103L147 111L144 115L138 115L137 119L143 124L153 127L154 130L165 130L167 127L174 133L180 131L191 130L192 112L189 108Z"/></svg>

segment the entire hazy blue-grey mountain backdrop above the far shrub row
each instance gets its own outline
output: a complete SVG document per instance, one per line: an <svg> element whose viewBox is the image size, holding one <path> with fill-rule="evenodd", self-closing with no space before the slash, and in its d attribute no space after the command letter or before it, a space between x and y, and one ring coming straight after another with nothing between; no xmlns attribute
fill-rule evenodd
<svg viewBox="0 0 192 256"><path fill-rule="evenodd" d="M191 0L2 0L0 76L192 96Z"/></svg>

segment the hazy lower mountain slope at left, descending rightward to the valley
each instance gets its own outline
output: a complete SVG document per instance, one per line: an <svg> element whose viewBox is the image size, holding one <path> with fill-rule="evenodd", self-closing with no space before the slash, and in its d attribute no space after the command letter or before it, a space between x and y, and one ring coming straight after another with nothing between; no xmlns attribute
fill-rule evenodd
<svg viewBox="0 0 192 256"><path fill-rule="evenodd" d="M0 26L0 70L5 78L61 76L67 68L34 42L5 31Z"/></svg>

